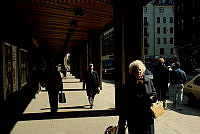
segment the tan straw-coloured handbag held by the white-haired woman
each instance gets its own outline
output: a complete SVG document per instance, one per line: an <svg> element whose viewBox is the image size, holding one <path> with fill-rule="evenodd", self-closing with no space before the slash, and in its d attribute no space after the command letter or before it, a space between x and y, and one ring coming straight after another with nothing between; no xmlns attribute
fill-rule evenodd
<svg viewBox="0 0 200 134"><path fill-rule="evenodd" d="M151 112L152 112L154 119L158 118L159 116L161 116L165 112L165 110L163 108L163 103L161 101L157 101L156 103L154 103L153 106L151 106L150 109L151 109Z"/></svg>

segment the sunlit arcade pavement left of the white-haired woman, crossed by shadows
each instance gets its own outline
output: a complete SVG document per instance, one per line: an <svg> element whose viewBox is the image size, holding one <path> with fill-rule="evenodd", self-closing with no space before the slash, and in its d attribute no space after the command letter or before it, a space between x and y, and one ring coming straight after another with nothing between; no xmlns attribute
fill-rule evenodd
<svg viewBox="0 0 200 134"><path fill-rule="evenodd" d="M117 124L113 84L103 83L93 109L89 109L82 82L67 76L63 85L67 103L59 104L58 114L49 114L48 94L43 90L31 101L11 134L103 134L108 126Z"/></svg>

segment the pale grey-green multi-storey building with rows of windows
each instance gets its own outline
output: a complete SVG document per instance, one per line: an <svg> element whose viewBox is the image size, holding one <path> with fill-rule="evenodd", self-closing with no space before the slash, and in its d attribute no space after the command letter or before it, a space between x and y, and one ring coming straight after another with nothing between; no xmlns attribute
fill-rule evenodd
<svg viewBox="0 0 200 134"><path fill-rule="evenodd" d="M153 0L144 6L143 26L145 58L176 57L172 0Z"/></svg>

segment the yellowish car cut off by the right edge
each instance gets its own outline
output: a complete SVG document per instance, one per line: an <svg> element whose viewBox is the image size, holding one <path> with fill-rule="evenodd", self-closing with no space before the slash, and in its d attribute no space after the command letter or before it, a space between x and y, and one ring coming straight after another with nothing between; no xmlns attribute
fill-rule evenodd
<svg viewBox="0 0 200 134"><path fill-rule="evenodd" d="M200 74L196 75L184 85L184 95L188 97L188 103L191 105L200 101Z"/></svg>

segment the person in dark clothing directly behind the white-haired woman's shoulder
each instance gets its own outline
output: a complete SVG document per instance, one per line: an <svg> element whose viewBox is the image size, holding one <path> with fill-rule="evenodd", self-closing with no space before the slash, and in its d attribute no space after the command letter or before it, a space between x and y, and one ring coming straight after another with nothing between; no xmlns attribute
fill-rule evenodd
<svg viewBox="0 0 200 134"><path fill-rule="evenodd" d="M153 82L157 92L158 100L163 102L163 107L166 109L167 108L166 99L168 99L169 97L168 94L169 70L165 66L164 58L158 59L158 64L153 74L154 74Z"/></svg>

